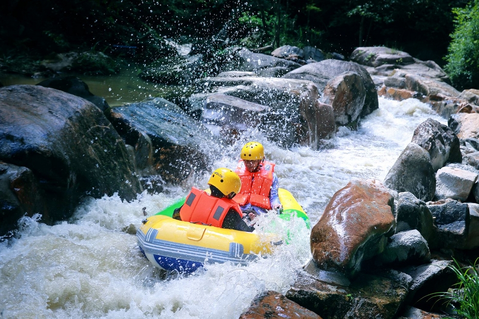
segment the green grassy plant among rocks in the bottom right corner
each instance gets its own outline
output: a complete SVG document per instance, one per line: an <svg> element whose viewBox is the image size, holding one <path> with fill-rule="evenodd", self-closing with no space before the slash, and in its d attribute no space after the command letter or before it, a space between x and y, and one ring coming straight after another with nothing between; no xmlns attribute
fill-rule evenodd
<svg viewBox="0 0 479 319"><path fill-rule="evenodd" d="M479 260L479 259L478 259ZM456 309L459 318L478 319L479 318L479 271L478 260L471 267L461 267L454 260L455 264L449 268L454 271L458 277L458 283L447 293L434 294L434 297L440 297L446 303Z"/></svg>

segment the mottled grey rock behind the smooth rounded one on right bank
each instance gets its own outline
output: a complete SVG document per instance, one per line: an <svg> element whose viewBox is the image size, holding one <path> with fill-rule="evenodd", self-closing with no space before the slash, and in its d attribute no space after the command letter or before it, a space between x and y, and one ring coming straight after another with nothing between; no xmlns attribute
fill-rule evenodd
<svg viewBox="0 0 479 319"><path fill-rule="evenodd" d="M462 162L457 135L449 127L432 118L418 125L411 142L427 150L434 171L442 168L447 162Z"/></svg>

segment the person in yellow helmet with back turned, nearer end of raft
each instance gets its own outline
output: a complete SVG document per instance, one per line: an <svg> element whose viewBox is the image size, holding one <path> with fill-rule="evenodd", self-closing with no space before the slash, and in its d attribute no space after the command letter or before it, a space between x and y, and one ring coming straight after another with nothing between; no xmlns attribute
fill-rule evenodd
<svg viewBox="0 0 479 319"><path fill-rule="evenodd" d="M184 204L176 208L173 218L190 223L202 223L221 228L253 231L242 219L241 208L232 198L241 188L238 174L231 169L216 169L208 180L211 194L191 188Z"/></svg>

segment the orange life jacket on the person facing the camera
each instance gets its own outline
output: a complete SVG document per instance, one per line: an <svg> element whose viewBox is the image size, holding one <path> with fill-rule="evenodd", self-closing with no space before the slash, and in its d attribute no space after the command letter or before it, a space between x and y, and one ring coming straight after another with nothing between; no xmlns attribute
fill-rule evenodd
<svg viewBox="0 0 479 319"><path fill-rule="evenodd" d="M246 169L243 160L239 160L235 172L241 179L241 190L233 197L240 206L250 203L260 208L271 209L269 194L273 185L273 172L275 164L263 161L262 167L257 172Z"/></svg>

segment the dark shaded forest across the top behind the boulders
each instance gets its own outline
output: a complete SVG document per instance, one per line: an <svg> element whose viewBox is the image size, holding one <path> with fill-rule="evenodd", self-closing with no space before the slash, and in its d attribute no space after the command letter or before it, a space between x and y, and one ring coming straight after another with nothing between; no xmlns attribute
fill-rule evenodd
<svg viewBox="0 0 479 319"><path fill-rule="evenodd" d="M358 46L384 45L421 60L434 60L447 70L450 61L444 57L449 53L450 58L458 50L450 51L461 17L462 24L469 23L468 15L478 13L478 0L3 0L2 3L0 68L6 61L43 59L69 51L94 50L108 55L114 45L135 46L137 61L149 63L168 55L164 39L170 38L180 43L220 39L249 48L314 46L342 54L346 59ZM462 16L461 10L465 10ZM479 18L472 19L477 20L479 27ZM478 38L479 30L474 28L470 30L471 36ZM479 38L471 49L478 48ZM473 55L469 51L461 54ZM473 68L476 64L479 70L477 57L469 56L476 59L469 64ZM464 87L477 83L477 77L474 71L453 75L452 79Z"/></svg>

